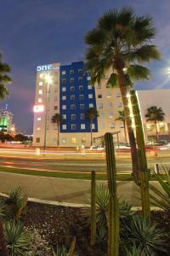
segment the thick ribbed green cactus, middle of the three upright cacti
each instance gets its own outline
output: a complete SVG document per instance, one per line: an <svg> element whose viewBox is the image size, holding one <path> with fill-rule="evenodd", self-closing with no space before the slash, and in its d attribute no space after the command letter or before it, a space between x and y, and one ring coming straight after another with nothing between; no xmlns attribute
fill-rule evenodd
<svg viewBox="0 0 170 256"><path fill-rule="evenodd" d="M119 255L119 207L116 197L116 160L113 137L110 132L105 133L105 153L107 164L107 178L109 187L109 215L108 215L108 256Z"/></svg>

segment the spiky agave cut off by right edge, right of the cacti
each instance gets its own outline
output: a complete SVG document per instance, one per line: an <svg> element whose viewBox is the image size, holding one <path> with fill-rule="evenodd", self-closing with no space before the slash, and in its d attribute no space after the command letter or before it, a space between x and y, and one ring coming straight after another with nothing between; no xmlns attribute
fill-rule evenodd
<svg viewBox="0 0 170 256"><path fill-rule="evenodd" d="M150 201L155 207L160 207L164 211L170 212L170 172L162 166L164 174L159 176L156 172L153 172L153 176L156 181L160 184L161 189L157 188L156 185L150 184Z"/></svg>

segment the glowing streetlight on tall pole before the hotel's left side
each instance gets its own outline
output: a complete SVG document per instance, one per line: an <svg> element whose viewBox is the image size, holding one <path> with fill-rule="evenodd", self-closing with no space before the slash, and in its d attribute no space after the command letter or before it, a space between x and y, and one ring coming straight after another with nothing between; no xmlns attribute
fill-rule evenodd
<svg viewBox="0 0 170 256"><path fill-rule="evenodd" d="M44 76L44 80L48 85L47 97L46 97L46 109L45 109L45 127L44 127L44 143L43 150L46 153L46 140L47 140L47 124L48 124L48 102L49 102L49 85L52 84L52 77L49 74Z"/></svg>

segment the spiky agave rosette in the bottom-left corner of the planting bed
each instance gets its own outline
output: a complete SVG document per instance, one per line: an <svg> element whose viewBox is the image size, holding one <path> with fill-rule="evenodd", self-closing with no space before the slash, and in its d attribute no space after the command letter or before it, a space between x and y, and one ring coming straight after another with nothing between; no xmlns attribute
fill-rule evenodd
<svg viewBox="0 0 170 256"><path fill-rule="evenodd" d="M5 224L8 250L11 256L24 256L29 251L31 240L29 233L19 221L8 221Z"/></svg>

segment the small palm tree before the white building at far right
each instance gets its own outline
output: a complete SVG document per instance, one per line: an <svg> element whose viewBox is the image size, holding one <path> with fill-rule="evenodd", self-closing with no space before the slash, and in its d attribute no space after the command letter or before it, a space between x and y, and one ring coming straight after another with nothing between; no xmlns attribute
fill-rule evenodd
<svg viewBox="0 0 170 256"><path fill-rule="evenodd" d="M146 122L153 121L156 127L156 138L159 139L158 131L157 131L157 121L163 121L165 117L165 113L162 108L157 108L156 106L152 106L147 108L147 113L145 114Z"/></svg>

